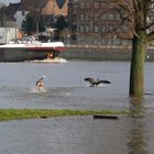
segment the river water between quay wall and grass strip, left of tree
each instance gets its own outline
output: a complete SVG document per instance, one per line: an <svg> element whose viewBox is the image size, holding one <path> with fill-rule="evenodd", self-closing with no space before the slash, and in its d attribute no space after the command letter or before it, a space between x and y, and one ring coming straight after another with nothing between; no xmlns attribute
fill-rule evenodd
<svg viewBox="0 0 154 154"><path fill-rule="evenodd" d="M103 109L128 107L129 63L68 62L64 64L0 64L1 108ZM35 82L45 78L45 92ZM91 88L84 79L112 84Z"/></svg>

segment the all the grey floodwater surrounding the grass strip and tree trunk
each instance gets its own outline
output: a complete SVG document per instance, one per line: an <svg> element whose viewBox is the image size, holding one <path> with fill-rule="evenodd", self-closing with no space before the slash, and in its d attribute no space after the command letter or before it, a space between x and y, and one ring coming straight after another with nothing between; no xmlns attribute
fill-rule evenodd
<svg viewBox="0 0 154 154"><path fill-rule="evenodd" d="M153 154L154 63L145 63L145 97L129 98L130 62L0 63L0 108L131 110L92 117L0 122L0 154ZM45 78L45 90L35 90ZM110 80L89 87L84 79ZM140 101L140 102L139 102Z"/></svg>

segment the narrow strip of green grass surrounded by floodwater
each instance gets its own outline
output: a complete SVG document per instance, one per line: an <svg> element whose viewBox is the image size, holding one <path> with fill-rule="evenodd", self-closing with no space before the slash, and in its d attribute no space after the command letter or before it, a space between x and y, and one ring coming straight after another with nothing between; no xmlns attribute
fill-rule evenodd
<svg viewBox="0 0 154 154"><path fill-rule="evenodd" d="M54 110L54 109L0 109L0 121L20 119L40 119L52 117L92 116L92 114L128 114L127 110Z"/></svg>

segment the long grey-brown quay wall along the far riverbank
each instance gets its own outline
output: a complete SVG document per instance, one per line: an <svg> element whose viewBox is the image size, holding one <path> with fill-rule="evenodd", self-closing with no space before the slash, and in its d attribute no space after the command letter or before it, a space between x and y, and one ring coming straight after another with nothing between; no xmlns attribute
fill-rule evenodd
<svg viewBox="0 0 154 154"><path fill-rule="evenodd" d="M86 48L67 47L61 56L66 59L89 59L89 61L131 61L131 48ZM154 50L148 50L148 61L154 61Z"/></svg>

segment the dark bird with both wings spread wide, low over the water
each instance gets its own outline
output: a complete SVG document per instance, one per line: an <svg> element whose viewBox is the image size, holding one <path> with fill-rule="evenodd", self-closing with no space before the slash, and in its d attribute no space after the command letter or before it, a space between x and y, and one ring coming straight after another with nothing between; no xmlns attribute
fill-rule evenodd
<svg viewBox="0 0 154 154"><path fill-rule="evenodd" d="M102 79L97 79L95 80L94 78L85 78L85 81L89 81L91 85L90 87L97 87L100 84L111 84L109 80L102 80Z"/></svg>

